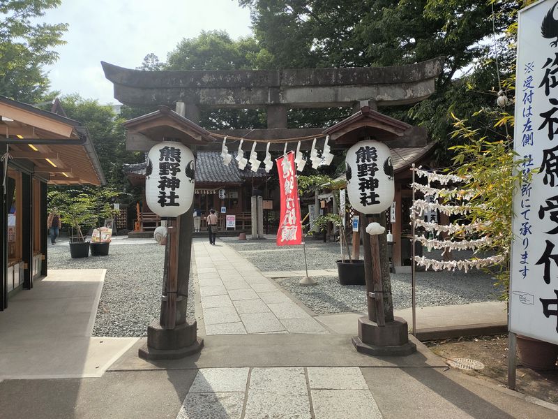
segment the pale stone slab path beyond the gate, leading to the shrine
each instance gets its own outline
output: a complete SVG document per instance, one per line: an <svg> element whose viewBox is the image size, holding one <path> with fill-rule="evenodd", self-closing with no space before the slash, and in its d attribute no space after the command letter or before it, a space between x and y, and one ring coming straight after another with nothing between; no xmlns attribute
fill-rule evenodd
<svg viewBox="0 0 558 419"><path fill-rule="evenodd" d="M206 335L327 333L227 244L199 239L193 246Z"/></svg>

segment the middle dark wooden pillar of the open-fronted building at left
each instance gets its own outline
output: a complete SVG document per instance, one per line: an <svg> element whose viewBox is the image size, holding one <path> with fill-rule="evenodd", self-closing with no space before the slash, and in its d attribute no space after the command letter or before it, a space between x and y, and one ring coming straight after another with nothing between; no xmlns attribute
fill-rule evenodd
<svg viewBox="0 0 558 419"><path fill-rule="evenodd" d="M33 288L33 178L27 173L22 173L21 200L23 288L30 290Z"/></svg>

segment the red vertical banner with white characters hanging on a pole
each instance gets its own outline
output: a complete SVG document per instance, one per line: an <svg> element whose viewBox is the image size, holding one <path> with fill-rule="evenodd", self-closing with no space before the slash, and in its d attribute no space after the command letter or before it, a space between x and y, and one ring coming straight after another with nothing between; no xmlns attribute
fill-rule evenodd
<svg viewBox="0 0 558 419"><path fill-rule="evenodd" d="M299 186L296 184L296 168L294 152L276 160L281 189L281 218L277 231L277 245L290 246L302 244L301 205L299 202Z"/></svg>

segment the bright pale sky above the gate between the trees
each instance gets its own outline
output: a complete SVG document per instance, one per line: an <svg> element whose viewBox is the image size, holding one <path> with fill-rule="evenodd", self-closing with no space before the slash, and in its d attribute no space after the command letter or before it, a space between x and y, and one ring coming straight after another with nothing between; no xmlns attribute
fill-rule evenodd
<svg viewBox="0 0 558 419"><path fill-rule="evenodd" d="M40 22L70 25L66 45L55 48L59 60L45 67L51 89L102 104L119 102L100 61L136 68L150 52L166 61L183 38L202 30L223 29L234 39L251 33L250 10L236 0L63 0Z"/></svg>

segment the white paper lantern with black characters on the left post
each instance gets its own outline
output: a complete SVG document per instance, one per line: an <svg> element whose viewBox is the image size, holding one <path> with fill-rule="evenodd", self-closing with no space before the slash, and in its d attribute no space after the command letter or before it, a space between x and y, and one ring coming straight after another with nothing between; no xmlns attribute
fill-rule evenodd
<svg viewBox="0 0 558 419"><path fill-rule="evenodd" d="M147 155L145 198L159 216L179 216L194 199L195 158L181 142L163 141Z"/></svg>

